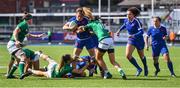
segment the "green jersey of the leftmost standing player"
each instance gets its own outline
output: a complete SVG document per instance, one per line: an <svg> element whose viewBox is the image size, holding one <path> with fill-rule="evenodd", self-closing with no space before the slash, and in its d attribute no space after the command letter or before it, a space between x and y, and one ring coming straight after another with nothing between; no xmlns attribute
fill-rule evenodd
<svg viewBox="0 0 180 88"><path fill-rule="evenodd" d="M17 25L17 27L16 27L15 30L17 30L17 29L20 30L20 32L18 33L18 40L19 40L20 42L23 42L23 41L24 41L24 38L26 37L26 35L27 35L28 32L29 32L29 26L28 26L26 20L20 22L20 23ZM14 40L15 40L15 39L14 39L14 36L12 36L10 40L14 41Z"/></svg>

